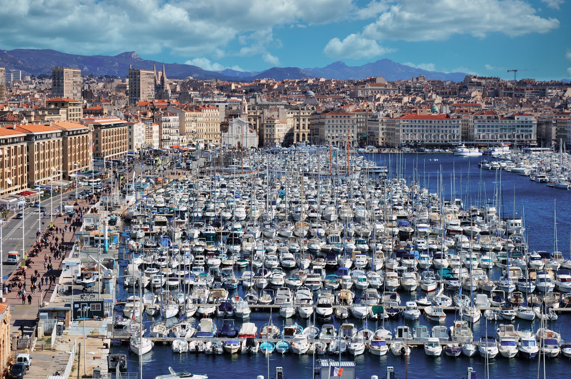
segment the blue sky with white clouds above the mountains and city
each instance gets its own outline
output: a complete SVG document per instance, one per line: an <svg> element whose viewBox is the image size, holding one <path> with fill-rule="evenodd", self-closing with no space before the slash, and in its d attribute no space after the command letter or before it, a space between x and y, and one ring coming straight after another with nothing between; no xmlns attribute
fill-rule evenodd
<svg viewBox="0 0 571 379"><path fill-rule="evenodd" d="M206 70L360 66L571 78L571 0L0 0L0 49Z"/></svg>

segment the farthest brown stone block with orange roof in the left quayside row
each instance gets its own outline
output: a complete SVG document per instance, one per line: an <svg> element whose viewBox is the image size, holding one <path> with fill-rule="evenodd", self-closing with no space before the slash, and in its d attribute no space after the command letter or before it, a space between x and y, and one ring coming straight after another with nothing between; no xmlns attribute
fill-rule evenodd
<svg viewBox="0 0 571 379"><path fill-rule="evenodd" d="M95 166L127 154L127 121L119 117L87 117L81 122L93 128Z"/></svg>

